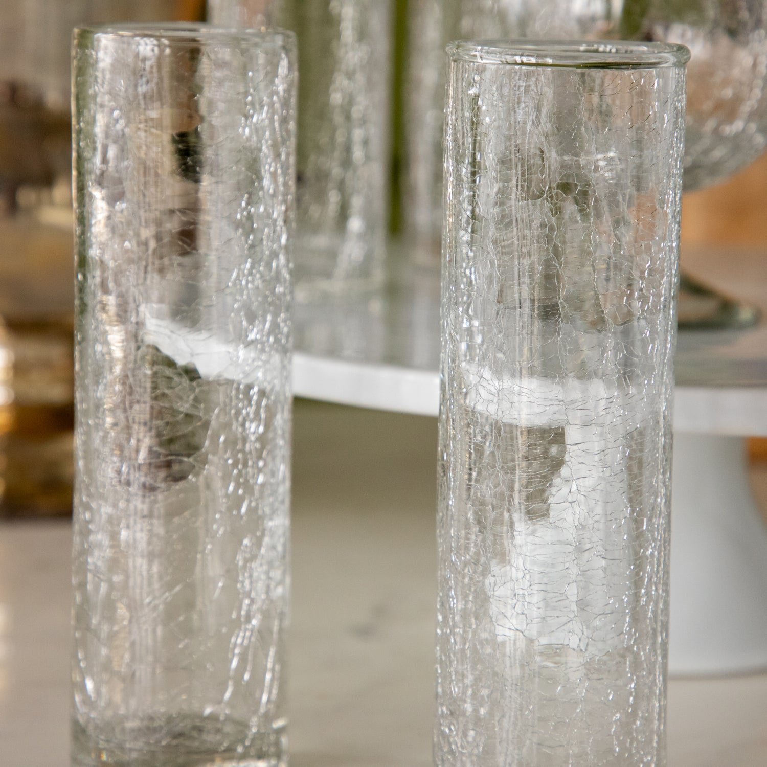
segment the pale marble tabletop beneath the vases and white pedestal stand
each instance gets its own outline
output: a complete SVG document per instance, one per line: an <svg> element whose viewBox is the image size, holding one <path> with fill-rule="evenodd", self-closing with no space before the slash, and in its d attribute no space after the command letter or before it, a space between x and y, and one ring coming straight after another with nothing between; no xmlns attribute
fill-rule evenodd
<svg viewBox="0 0 767 767"><path fill-rule="evenodd" d="M294 451L291 764L428 767L436 420L298 402ZM0 522L2 767L68 765L69 545ZM669 767L765 767L765 712L767 673L671 680Z"/></svg>

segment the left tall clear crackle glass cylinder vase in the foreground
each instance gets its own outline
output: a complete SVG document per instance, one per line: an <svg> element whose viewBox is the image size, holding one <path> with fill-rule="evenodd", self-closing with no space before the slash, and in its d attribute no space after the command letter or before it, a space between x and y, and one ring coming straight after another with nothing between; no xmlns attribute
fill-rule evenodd
<svg viewBox="0 0 767 767"><path fill-rule="evenodd" d="M72 765L278 767L295 38L74 38Z"/></svg>

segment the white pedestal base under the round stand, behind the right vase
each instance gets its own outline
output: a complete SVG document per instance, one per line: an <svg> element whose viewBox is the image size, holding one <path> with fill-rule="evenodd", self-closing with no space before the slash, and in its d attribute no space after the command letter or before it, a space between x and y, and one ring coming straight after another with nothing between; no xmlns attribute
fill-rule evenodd
<svg viewBox="0 0 767 767"><path fill-rule="evenodd" d="M767 525L745 440L676 433L672 508L670 673L767 667Z"/></svg>

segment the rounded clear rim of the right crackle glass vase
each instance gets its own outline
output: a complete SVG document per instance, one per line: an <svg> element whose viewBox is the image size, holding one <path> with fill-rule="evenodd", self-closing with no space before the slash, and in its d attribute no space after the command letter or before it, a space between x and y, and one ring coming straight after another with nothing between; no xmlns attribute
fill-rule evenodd
<svg viewBox="0 0 767 767"><path fill-rule="evenodd" d="M451 61L517 67L654 69L690 61L686 45L628 40L456 40L446 50Z"/></svg>

